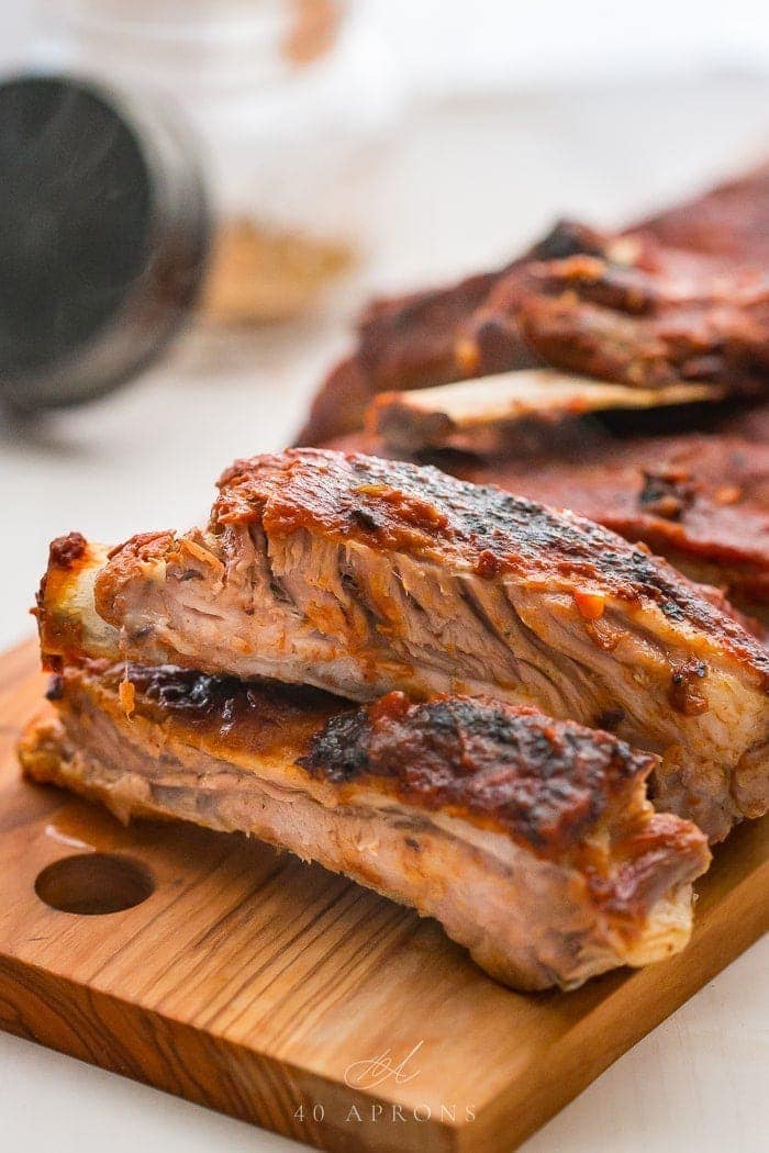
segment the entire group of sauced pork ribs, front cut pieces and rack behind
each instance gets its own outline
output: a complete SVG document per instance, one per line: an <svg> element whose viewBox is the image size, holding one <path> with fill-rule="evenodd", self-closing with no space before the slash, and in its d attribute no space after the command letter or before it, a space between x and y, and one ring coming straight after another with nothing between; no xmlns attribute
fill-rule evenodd
<svg viewBox="0 0 769 1153"><path fill-rule="evenodd" d="M375 303L304 430L325 447L238 461L191 532L53 542L25 773L286 847L519 988L681 949L708 841L769 807L769 655L678 571L769 603L768 236L764 169ZM383 392L521 369L559 395L519 392L483 449L431 431L442 470L363 431ZM390 415L477 430L483 395Z"/></svg>

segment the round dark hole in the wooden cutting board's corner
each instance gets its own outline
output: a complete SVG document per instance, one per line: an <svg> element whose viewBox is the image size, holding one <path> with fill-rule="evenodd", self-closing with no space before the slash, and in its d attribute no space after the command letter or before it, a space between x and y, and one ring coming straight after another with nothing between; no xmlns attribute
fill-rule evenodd
<svg viewBox="0 0 769 1153"><path fill-rule="evenodd" d="M51 909L98 917L141 905L154 892L154 877L131 857L77 853L46 866L35 891Z"/></svg>

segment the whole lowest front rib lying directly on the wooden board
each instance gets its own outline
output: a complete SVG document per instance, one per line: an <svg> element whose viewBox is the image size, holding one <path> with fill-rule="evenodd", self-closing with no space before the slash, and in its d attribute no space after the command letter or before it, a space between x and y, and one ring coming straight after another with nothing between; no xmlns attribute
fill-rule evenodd
<svg viewBox="0 0 769 1153"><path fill-rule="evenodd" d="M425 915L493 977L573 988L684 947L693 824L655 813L654 758L467 699L370 708L174 669L68 668L22 762L119 816L255 834ZM130 709L130 716L126 714Z"/></svg>

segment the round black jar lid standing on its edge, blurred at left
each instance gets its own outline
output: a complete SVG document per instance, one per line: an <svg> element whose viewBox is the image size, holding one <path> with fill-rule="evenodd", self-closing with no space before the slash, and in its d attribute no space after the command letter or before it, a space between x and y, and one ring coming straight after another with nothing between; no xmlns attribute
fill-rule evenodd
<svg viewBox="0 0 769 1153"><path fill-rule="evenodd" d="M0 398L98 397L195 303L211 226L195 142L160 100L67 76L0 85Z"/></svg>

